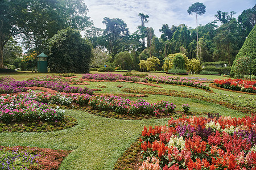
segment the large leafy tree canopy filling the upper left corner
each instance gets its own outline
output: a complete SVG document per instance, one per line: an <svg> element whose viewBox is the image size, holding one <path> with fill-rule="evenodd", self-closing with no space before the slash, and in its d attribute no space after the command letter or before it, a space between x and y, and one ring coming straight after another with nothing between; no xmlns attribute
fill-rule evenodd
<svg viewBox="0 0 256 170"><path fill-rule="evenodd" d="M27 50L47 53L47 41L63 28L84 30L92 22L80 0L1 0L0 68L3 47L11 37L22 36Z"/></svg>

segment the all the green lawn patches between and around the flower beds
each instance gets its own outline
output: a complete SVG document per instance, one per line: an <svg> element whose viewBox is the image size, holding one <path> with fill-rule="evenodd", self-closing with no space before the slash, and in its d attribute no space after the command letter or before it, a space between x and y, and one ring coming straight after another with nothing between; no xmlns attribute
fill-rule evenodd
<svg viewBox="0 0 256 170"><path fill-rule="evenodd" d="M91 71L91 73L98 73ZM102 74L102 73L99 73ZM115 74L118 74L115 72ZM119 73L123 74L123 73ZM7 74L0 74L6 76ZM46 75L41 73L16 73L8 74L16 80L27 80L34 76ZM79 78L81 74L76 74ZM148 73L148 75L166 75L164 73ZM188 75L199 76L208 79L225 79L223 76L214 75ZM184 77L184 76L183 76ZM105 84L107 88L100 88L102 91L97 93L121 94L122 88L129 87L148 87L142 84L124 83L124 82L89 82L90 85L80 87L96 88L97 84ZM118 85L123 86L117 88ZM159 84L164 89L204 93L203 90L189 87L171 86L168 84ZM78 85L74 85L78 86ZM229 94L235 96L245 96L248 99L255 99L253 95L237 94L235 92L221 91L212 89L216 93ZM138 98L130 98L137 100ZM176 104L177 110L182 110L182 104L189 104L191 111L196 112L214 112L224 116L241 117L245 114L222 107L221 105L208 103L196 99L186 99L182 97L148 95L144 100L155 103L160 100L168 100ZM49 133L0 133L0 145L3 146L32 146L41 148L52 148L61 150L72 150L71 154L64 159L60 169L113 169L117 159L122 156L127 147L138 139L144 126L164 125L168 123L168 118L151 120L115 120L113 118L104 118L82 111L67 110L68 116L77 119L78 125L60 131Z"/></svg>

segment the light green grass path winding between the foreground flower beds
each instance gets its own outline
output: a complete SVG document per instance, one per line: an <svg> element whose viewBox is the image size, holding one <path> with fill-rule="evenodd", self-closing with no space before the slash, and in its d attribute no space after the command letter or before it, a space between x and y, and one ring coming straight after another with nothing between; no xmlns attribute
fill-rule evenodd
<svg viewBox="0 0 256 170"><path fill-rule="evenodd" d="M50 133L1 133L0 145L38 146L73 150L60 169L113 169L117 159L141 134L144 125L167 124L162 120L115 120L67 110L79 125Z"/></svg>

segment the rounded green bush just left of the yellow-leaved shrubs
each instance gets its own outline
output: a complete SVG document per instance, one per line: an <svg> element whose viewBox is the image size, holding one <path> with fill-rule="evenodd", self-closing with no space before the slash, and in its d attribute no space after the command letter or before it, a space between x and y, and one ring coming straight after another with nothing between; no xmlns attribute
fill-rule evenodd
<svg viewBox="0 0 256 170"><path fill-rule="evenodd" d="M114 65L120 66L122 70L131 70L133 58L129 52L120 52L114 58Z"/></svg>

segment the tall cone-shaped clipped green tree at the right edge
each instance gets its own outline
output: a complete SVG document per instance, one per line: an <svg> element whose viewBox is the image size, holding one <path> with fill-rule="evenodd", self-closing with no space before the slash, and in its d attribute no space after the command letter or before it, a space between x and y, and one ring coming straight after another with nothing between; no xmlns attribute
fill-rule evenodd
<svg viewBox="0 0 256 170"><path fill-rule="evenodd" d="M243 44L242 48L240 49L240 51L236 56L236 59L232 65L232 70L231 70L232 76L240 76L241 72L237 71L237 69L239 68L237 67L237 65L240 65L240 63L238 63L238 59L241 59L243 57L251 58L251 65L249 66L251 68L251 74L256 75L256 27L255 26L253 30L251 30L250 34L245 40L245 43Z"/></svg>

